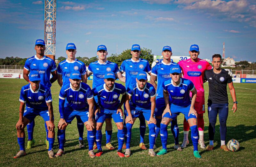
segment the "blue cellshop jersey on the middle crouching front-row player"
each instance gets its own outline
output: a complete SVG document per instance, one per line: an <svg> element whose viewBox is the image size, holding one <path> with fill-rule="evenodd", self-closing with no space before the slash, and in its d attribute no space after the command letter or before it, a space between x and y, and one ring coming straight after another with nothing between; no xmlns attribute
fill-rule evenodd
<svg viewBox="0 0 256 167"><path fill-rule="evenodd" d="M106 84L102 86L95 87L93 94L98 96L98 101L100 108L102 108L104 113L116 113L119 106L119 96L120 94L125 95L126 89L122 84L115 83L112 90L108 91L106 89ZM107 110L105 110L107 109Z"/></svg>

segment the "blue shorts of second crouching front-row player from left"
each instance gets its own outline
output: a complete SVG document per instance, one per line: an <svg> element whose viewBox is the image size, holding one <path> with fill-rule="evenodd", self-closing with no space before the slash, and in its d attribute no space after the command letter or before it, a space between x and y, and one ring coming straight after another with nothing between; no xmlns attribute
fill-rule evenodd
<svg viewBox="0 0 256 167"><path fill-rule="evenodd" d="M63 112L64 119L67 123L71 124L73 119L76 116L80 116L82 119L83 123L88 121L89 118L89 110L84 110L84 111L76 111L76 110L68 110L67 108L64 109Z"/></svg>

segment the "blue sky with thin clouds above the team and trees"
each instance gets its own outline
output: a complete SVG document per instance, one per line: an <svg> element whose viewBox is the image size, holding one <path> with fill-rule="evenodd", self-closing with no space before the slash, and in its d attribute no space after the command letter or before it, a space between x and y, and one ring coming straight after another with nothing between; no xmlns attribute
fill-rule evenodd
<svg viewBox="0 0 256 167"><path fill-rule="evenodd" d="M36 39L44 39L44 0L0 0L0 58L35 55ZM198 44L200 58L215 53L236 61L256 61L254 0L57 0L56 57L66 56L74 42L76 56L96 56L105 44L108 55L138 43L160 55L163 46L174 56L188 56Z"/></svg>

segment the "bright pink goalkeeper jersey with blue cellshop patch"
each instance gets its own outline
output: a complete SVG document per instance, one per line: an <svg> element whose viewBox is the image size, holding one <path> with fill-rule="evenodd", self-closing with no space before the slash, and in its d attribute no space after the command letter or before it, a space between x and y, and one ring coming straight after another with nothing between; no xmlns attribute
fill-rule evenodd
<svg viewBox="0 0 256 167"><path fill-rule="evenodd" d="M210 63L200 58L198 58L197 62L192 62L190 58L182 60L178 64L182 69L183 77L194 83L197 96L204 96L204 72L212 69Z"/></svg>

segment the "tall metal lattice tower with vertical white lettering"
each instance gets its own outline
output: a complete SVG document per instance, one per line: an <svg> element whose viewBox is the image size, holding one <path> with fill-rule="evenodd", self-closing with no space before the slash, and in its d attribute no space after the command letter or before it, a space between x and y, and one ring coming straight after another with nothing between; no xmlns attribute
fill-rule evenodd
<svg viewBox="0 0 256 167"><path fill-rule="evenodd" d="M44 1L45 56L55 60L56 47L56 0Z"/></svg>

